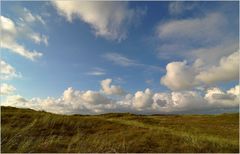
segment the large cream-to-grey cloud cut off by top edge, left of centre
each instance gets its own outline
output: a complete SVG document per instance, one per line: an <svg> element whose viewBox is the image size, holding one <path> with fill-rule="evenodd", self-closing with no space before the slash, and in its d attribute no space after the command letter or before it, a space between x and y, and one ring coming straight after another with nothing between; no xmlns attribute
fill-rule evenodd
<svg viewBox="0 0 240 154"><path fill-rule="evenodd" d="M127 27L146 10L131 9L126 2L52 1L58 13L70 22L79 18L89 24L96 36L121 41Z"/></svg>

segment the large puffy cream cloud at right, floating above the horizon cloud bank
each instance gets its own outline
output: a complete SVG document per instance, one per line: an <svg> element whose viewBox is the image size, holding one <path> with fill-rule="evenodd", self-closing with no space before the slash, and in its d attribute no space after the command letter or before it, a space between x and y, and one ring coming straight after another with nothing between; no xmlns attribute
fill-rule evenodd
<svg viewBox="0 0 240 154"><path fill-rule="evenodd" d="M234 81L239 78L239 53L234 52L222 57L216 66L205 66L204 62L198 59L193 65L187 64L186 61L171 62L167 64L166 70L166 75L161 78L161 84L171 90Z"/></svg>

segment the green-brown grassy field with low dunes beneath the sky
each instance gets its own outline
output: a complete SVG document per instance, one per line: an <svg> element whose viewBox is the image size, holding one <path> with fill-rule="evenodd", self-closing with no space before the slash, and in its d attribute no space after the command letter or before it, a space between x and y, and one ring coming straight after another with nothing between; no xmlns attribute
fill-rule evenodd
<svg viewBox="0 0 240 154"><path fill-rule="evenodd" d="M239 115L56 115L1 107L2 152L239 152Z"/></svg>

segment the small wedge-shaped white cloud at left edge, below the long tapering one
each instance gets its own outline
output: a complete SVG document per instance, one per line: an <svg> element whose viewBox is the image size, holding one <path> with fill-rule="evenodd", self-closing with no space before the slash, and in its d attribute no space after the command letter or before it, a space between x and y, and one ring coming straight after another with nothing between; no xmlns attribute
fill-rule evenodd
<svg viewBox="0 0 240 154"><path fill-rule="evenodd" d="M8 80L14 77L21 77L19 73L16 72L15 68L10 64L6 63L4 60L0 60L0 79L1 80Z"/></svg>

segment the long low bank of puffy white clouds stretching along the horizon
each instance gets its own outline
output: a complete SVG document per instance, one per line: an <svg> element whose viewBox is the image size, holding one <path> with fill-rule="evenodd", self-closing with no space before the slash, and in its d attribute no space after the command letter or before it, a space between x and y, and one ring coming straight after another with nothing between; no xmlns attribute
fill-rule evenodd
<svg viewBox="0 0 240 154"><path fill-rule="evenodd" d="M61 114L101 114L109 112L188 113L222 109L238 109L239 85L227 91L217 87L206 91L173 91L154 93L150 89L126 93L122 97L109 97L102 91L79 91L67 88L59 98L25 99L20 95L9 95L2 102L5 106L16 106L45 110Z"/></svg>

